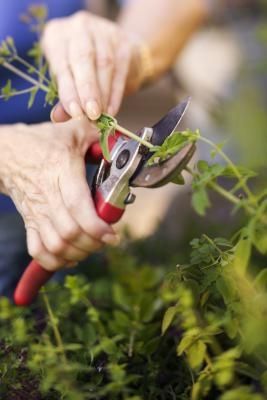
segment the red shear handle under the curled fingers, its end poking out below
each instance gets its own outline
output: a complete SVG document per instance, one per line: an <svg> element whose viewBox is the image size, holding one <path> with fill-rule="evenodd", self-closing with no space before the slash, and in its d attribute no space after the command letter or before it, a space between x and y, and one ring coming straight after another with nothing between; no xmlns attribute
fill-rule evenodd
<svg viewBox="0 0 267 400"><path fill-rule="evenodd" d="M95 207L100 218L114 224L122 217L124 210L106 203L100 193L96 193ZM37 261L32 261L23 273L14 293L17 306L30 305L41 287L53 276L53 271L45 270Z"/></svg>

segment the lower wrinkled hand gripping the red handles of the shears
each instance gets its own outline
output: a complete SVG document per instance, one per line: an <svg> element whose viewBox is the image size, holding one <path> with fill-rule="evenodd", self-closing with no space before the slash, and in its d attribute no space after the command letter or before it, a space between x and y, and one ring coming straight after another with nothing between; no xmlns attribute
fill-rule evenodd
<svg viewBox="0 0 267 400"><path fill-rule="evenodd" d="M7 129L2 186L24 219L29 254L57 270L104 243L115 244L117 236L97 216L86 181L84 156L97 140L88 119Z"/></svg>

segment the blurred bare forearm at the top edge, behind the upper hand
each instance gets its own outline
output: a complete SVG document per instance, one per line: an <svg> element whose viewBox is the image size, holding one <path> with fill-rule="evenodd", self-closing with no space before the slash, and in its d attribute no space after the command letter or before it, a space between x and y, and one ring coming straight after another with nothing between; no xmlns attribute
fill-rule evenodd
<svg viewBox="0 0 267 400"><path fill-rule="evenodd" d="M173 64L207 16L205 0L130 0L118 22L146 43L156 78Z"/></svg>

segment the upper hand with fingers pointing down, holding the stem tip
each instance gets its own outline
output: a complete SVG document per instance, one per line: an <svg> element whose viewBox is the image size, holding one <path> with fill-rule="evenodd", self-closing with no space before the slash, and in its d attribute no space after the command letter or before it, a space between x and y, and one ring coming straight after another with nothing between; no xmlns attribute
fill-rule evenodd
<svg viewBox="0 0 267 400"><path fill-rule="evenodd" d="M42 47L55 74L60 102L72 117L115 115L124 91L136 90L138 45L115 23L80 11L46 25Z"/></svg>

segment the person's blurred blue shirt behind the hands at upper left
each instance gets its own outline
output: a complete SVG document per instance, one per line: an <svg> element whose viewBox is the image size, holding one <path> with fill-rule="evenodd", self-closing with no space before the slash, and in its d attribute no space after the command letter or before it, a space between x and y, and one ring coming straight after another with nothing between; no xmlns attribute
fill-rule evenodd
<svg viewBox="0 0 267 400"><path fill-rule="evenodd" d="M0 0L0 42L7 36L14 38L18 53L21 57L32 62L27 56L33 42L37 40L36 34L30 31L27 24L22 22L21 15L27 12L32 4L45 4L48 9L48 19L64 17L84 8L84 0ZM12 80L12 87L22 90L29 84L21 78L10 73L0 66L0 88L8 79ZM29 95L21 95L10 98L8 101L0 99L0 124L13 124L17 122L38 123L49 119L51 107L44 107L45 95L39 92L34 105L28 109ZM0 213L14 211L12 201L0 195Z"/></svg>

